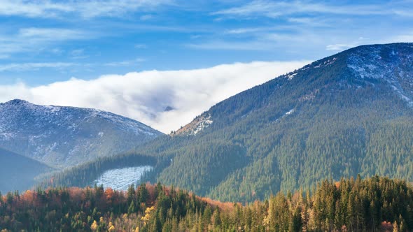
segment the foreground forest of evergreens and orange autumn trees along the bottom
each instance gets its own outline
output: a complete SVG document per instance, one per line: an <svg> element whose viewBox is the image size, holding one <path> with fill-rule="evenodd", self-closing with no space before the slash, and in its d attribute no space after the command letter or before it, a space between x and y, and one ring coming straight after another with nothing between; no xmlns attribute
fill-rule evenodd
<svg viewBox="0 0 413 232"><path fill-rule="evenodd" d="M0 196L3 231L412 231L413 188L371 177L325 180L248 205L161 184L55 188Z"/></svg>

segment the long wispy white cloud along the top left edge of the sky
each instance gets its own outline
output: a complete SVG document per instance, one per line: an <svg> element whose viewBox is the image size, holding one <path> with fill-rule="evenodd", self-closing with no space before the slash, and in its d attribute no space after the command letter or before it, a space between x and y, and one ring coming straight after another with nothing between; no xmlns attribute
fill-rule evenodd
<svg viewBox="0 0 413 232"><path fill-rule="evenodd" d="M2 0L0 15L22 17L62 17L73 13L81 17L120 17L134 11L153 10L158 6L169 4L169 0L74 0L74 1L23 1Z"/></svg>

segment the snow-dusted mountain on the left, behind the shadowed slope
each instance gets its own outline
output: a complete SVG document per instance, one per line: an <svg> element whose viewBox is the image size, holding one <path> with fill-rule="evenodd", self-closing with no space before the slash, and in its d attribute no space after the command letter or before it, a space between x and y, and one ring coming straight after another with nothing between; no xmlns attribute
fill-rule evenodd
<svg viewBox="0 0 413 232"><path fill-rule="evenodd" d="M50 166L118 154L162 135L141 122L102 110L0 103L0 147Z"/></svg>

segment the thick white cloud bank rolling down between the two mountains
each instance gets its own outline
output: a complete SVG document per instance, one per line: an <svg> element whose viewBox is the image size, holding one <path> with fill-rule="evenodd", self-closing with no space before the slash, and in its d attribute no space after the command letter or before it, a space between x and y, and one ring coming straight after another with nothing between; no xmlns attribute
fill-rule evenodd
<svg viewBox="0 0 413 232"><path fill-rule="evenodd" d="M38 87L18 83L0 86L0 101L18 98L38 104L99 108L169 133L215 103L307 63L255 61L194 70L103 75L95 80L72 78ZM167 106L174 110L165 112Z"/></svg>

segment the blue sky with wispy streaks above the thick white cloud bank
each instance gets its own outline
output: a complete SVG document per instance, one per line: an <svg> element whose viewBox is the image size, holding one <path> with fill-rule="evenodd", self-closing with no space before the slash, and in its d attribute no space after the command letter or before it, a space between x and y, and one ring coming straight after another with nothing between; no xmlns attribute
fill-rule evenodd
<svg viewBox="0 0 413 232"><path fill-rule="evenodd" d="M0 1L0 85L412 41L413 1Z"/></svg>

